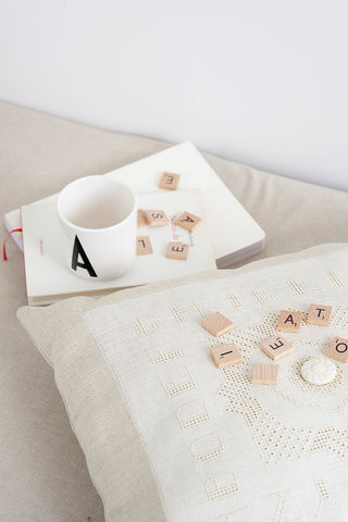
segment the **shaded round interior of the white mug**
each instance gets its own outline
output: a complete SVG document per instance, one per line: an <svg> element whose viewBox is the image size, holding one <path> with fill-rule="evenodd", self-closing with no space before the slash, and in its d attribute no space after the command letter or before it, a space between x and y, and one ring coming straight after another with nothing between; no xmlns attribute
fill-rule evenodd
<svg viewBox="0 0 348 522"><path fill-rule="evenodd" d="M89 176L63 188L59 212L82 228L107 228L124 221L134 210L133 191L113 179Z"/></svg>

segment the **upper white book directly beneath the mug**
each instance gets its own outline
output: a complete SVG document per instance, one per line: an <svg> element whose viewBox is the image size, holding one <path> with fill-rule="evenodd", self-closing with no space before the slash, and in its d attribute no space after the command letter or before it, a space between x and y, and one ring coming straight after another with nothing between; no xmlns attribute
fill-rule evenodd
<svg viewBox="0 0 348 522"><path fill-rule="evenodd" d="M170 219L170 225L157 227L146 225L139 228L138 236L149 236L153 253L137 257L127 273L112 281L85 279L69 269L61 245L57 199L58 195L54 195L21 207L29 304L49 304L69 296L101 295L216 269L204 209L200 192L197 190L181 192L163 190L163 194L149 192L138 196L139 208L164 210ZM177 227L174 223L185 210L202 217L201 224L192 233ZM187 261L165 258L169 241L190 245Z"/></svg>

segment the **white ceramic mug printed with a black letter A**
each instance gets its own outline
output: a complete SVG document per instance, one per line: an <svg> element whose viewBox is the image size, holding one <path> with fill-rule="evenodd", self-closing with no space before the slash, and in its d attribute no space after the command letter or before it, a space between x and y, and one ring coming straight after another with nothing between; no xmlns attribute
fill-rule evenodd
<svg viewBox="0 0 348 522"><path fill-rule="evenodd" d="M66 185L58 199L69 268L87 279L111 279L136 258L137 201L132 188L104 176Z"/></svg>

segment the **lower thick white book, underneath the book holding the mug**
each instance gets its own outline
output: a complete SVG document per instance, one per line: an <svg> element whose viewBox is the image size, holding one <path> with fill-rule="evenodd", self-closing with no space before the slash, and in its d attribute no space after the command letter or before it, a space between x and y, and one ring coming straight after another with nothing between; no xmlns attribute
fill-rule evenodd
<svg viewBox="0 0 348 522"><path fill-rule="evenodd" d="M163 194L164 190L160 189L158 184L164 171L181 174L178 191L200 189L219 269L263 249L265 234L262 228L189 141L104 175L130 185L137 194L149 191ZM5 214L5 225L9 232L21 227L18 210ZM13 234L13 238L21 246L21 234Z"/></svg>

